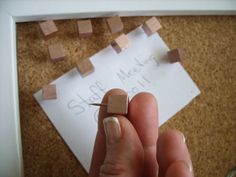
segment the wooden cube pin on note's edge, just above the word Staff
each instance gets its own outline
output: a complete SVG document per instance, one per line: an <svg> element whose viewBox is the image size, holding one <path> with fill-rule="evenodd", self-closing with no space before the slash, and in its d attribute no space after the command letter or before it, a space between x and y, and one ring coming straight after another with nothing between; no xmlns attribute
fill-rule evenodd
<svg viewBox="0 0 236 177"><path fill-rule="evenodd" d="M82 77L85 77L94 72L94 66L90 59L85 59L77 63L77 69Z"/></svg>

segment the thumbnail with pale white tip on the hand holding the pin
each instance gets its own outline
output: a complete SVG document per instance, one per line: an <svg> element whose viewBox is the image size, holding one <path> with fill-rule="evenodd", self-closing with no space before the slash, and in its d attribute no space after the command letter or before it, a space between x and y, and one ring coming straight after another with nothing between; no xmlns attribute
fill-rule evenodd
<svg viewBox="0 0 236 177"><path fill-rule="evenodd" d="M117 117L107 117L103 119L103 125L108 144L112 144L120 139L121 128Z"/></svg>

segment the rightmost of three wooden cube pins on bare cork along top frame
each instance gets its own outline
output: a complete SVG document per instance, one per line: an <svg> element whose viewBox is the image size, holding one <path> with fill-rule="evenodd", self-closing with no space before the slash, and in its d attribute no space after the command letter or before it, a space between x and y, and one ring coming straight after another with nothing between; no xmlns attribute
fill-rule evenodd
<svg viewBox="0 0 236 177"><path fill-rule="evenodd" d="M108 18L107 24L112 34L118 33L124 28L124 25L119 16Z"/></svg>

